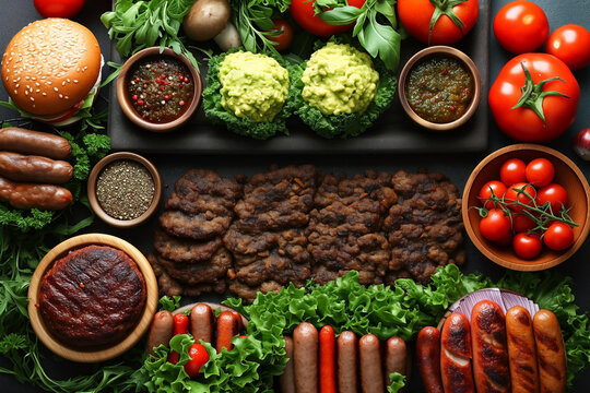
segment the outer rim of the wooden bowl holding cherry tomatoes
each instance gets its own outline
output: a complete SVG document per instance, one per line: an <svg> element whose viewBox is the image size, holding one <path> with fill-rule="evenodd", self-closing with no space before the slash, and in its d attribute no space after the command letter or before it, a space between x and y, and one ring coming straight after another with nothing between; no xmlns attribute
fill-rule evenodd
<svg viewBox="0 0 590 393"><path fill-rule="evenodd" d="M512 153L512 152L517 152L517 151L542 152L542 153L545 153L545 154L548 154L548 155L555 157L558 160L562 160L569 169L571 169L576 174L576 177L578 178L578 181L581 183L582 189L586 192L586 219L585 219L583 227L581 228L580 235L578 236L578 238L576 239L576 241L574 242L574 245L571 245L571 247L569 249L567 249L566 251L560 253L558 257L556 257L553 260L547 261L547 262L534 263L534 262L526 261L526 260L522 260L522 261L519 261L519 262L511 262L511 261L507 261L507 260L505 260L503 258L499 258L498 255L496 255L495 253L489 251L489 249L486 247L486 245L484 245L475 236L475 233L474 233L473 227L471 225L471 222L469 219L469 207L470 207L469 206L469 195L470 195L470 193L472 191L472 186L473 186L473 182L475 181L475 178L480 175L482 169L487 164L489 164L492 160L494 160L497 157L499 157L502 155L505 155L507 153ZM508 145L508 146L498 148L497 151L491 153L484 159L482 159L480 162L480 164L477 164L477 166L473 169L473 171L469 176L469 179L468 179L468 181L465 183L465 187L463 189L462 203L461 203L461 214L463 216L463 224L464 224L464 227L465 227L465 231L468 233L471 241L473 242L473 245L475 245L475 247L480 250L480 252L482 252L487 259L489 259L493 262L499 264L500 266L511 269L511 270L515 270L515 271L535 272L535 271L546 270L546 269L554 267L554 266L565 262L574 253L576 253L576 251L578 251L580 249L580 247L583 245L583 242L586 241L586 238L588 237L588 233L590 231L590 186L588 184L588 180L583 176L580 168L578 168L578 166L571 159L569 159L566 155L564 155L563 153L560 153L560 152L558 152L558 151L556 151L554 148L543 146L543 145L533 144L533 143L512 144L512 145ZM515 255L515 258L516 258L516 255Z"/></svg>

